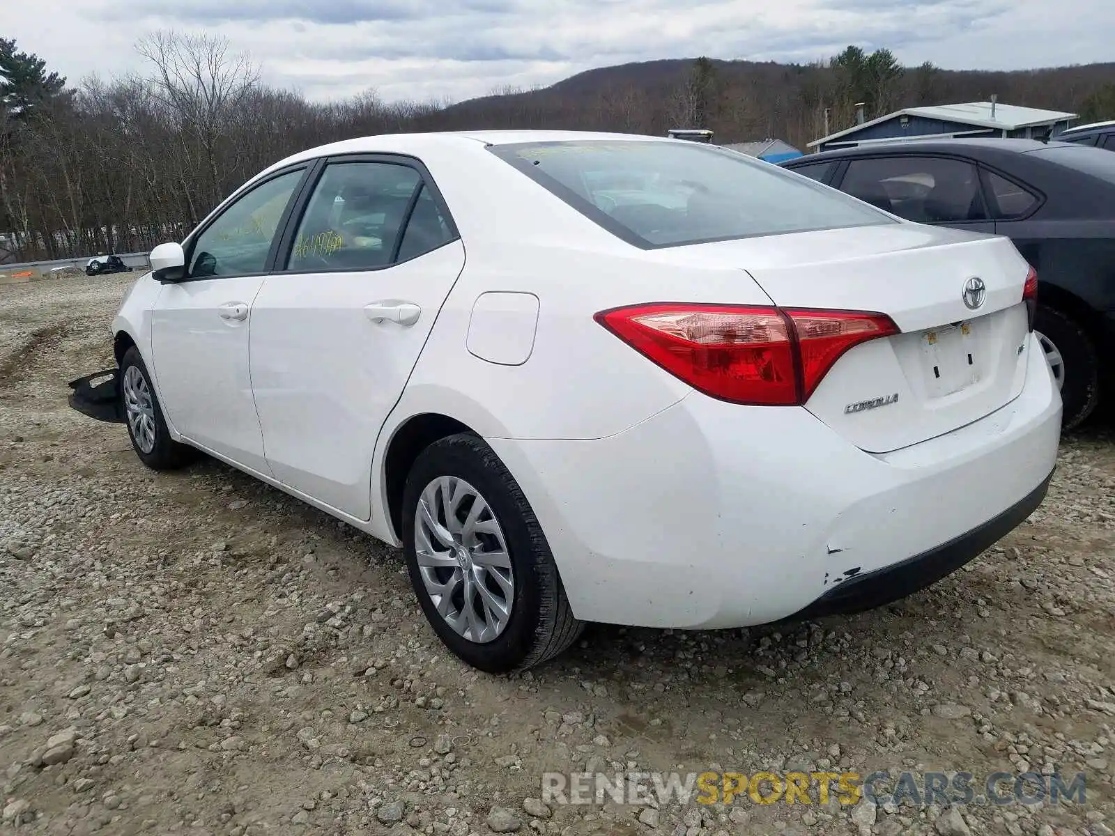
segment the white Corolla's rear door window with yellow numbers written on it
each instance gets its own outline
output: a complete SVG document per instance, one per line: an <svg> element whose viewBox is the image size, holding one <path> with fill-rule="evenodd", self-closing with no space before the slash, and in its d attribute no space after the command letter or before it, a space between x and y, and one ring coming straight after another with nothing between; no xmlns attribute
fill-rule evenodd
<svg viewBox="0 0 1115 836"><path fill-rule="evenodd" d="M421 175L395 163L330 163L307 205L287 270L374 270L392 263Z"/></svg>

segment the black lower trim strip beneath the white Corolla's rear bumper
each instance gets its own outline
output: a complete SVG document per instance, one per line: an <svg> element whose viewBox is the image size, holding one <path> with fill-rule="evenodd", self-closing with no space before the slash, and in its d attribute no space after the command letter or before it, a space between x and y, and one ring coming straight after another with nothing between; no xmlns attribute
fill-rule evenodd
<svg viewBox="0 0 1115 836"><path fill-rule="evenodd" d="M937 583L966 563L979 557L985 550L1026 522L1026 518L1045 499L1050 479L1053 479L1053 473L1022 499L983 525L977 526L948 543L930 548L928 552L922 552L874 572L855 575L826 592L804 610L787 616L785 621L820 619L825 615L850 615L865 610L874 610Z"/></svg>

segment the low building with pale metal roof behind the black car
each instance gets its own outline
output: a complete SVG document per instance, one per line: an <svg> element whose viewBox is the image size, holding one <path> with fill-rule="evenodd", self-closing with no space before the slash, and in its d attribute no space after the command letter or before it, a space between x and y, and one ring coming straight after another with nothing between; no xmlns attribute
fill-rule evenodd
<svg viewBox="0 0 1115 836"><path fill-rule="evenodd" d="M1075 118L1076 114L1060 110L1001 105L993 98L990 101L961 105L906 107L814 139L807 147L828 150L867 143L943 139L954 136L1035 139L1046 133L1050 137L1057 136Z"/></svg>

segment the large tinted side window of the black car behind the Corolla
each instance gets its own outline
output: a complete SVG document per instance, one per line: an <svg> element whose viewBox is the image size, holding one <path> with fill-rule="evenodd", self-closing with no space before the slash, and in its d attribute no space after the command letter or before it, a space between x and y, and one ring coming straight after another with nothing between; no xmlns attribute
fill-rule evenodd
<svg viewBox="0 0 1115 836"><path fill-rule="evenodd" d="M917 223L986 221L976 166L948 157L867 157L849 163L841 191Z"/></svg>

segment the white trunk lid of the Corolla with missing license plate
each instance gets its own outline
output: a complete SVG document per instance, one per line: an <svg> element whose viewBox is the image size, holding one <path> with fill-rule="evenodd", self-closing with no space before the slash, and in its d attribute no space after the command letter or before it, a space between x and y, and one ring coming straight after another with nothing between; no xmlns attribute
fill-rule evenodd
<svg viewBox="0 0 1115 836"><path fill-rule="evenodd" d="M1006 237L902 223L697 244L675 256L745 269L782 308L891 317L901 333L850 349L805 405L866 451L979 420L1025 383L1029 265ZM964 303L973 278L983 285L975 309Z"/></svg>

